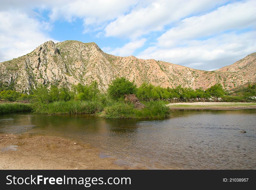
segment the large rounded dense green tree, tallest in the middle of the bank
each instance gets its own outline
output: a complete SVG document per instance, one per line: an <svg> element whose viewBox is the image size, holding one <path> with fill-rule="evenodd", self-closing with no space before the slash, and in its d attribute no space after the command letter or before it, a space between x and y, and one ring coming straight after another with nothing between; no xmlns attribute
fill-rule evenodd
<svg viewBox="0 0 256 190"><path fill-rule="evenodd" d="M113 80L108 88L108 93L111 98L124 98L125 94L134 94L135 92L136 85L126 80L124 77Z"/></svg>

